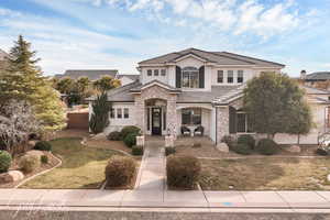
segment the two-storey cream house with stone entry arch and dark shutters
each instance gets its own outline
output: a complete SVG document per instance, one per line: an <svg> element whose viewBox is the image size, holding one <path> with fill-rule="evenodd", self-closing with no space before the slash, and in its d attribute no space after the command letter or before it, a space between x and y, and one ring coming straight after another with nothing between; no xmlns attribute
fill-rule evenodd
<svg viewBox="0 0 330 220"><path fill-rule="evenodd" d="M228 134L253 133L242 111L245 82L263 72L280 73L284 67L283 64L233 53L196 48L140 62L140 81L108 92L112 109L106 132L138 125L144 134L177 136L182 135L182 128L194 134L202 127L204 134L215 143ZM327 116L326 97L330 95L310 96L318 109L318 129L324 129L326 118L321 119L319 113ZM92 113L91 105L89 107ZM317 139L312 136L310 142L316 143Z"/></svg>

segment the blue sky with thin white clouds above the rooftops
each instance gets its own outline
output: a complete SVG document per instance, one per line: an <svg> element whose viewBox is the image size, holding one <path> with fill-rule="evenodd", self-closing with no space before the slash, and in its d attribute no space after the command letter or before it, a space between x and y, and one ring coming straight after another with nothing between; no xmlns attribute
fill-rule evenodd
<svg viewBox="0 0 330 220"><path fill-rule="evenodd" d="M23 34L46 75L68 68L136 73L187 47L330 70L330 0L0 0L0 48Z"/></svg>

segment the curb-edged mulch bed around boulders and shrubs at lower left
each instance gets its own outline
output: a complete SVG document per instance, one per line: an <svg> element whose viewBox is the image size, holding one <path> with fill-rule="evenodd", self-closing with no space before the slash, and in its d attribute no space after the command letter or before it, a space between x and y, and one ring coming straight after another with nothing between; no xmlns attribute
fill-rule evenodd
<svg viewBox="0 0 330 220"><path fill-rule="evenodd" d="M0 188L14 188L15 186L18 186L20 183L22 183L26 178L29 178L33 175L36 175L38 173L42 173L46 169L53 168L54 166L56 166L59 163L58 160L56 160L52 153L45 152L45 155L48 156L48 163L47 164L41 164L41 167L36 168L32 173L29 173L29 174L23 173L24 178L19 180L19 182L7 183L7 184L0 183ZM9 170L20 170L19 158L21 156L23 156L23 154L15 155L15 157L13 158L13 161L11 163L11 166L10 166Z"/></svg>

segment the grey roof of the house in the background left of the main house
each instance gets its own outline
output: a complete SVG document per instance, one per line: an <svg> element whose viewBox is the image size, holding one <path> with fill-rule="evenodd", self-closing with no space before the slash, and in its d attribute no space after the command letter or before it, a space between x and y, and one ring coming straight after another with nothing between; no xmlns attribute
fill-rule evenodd
<svg viewBox="0 0 330 220"><path fill-rule="evenodd" d="M69 77L77 79L79 77L88 77L90 80L97 80L105 75L116 78L117 69L68 69L63 75L55 75L56 78Z"/></svg>

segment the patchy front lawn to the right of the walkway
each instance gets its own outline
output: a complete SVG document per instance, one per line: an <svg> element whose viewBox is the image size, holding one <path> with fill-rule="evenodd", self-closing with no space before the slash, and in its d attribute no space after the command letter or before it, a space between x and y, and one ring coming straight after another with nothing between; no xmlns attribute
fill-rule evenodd
<svg viewBox="0 0 330 220"><path fill-rule="evenodd" d="M205 190L330 189L329 158L200 160Z"/></svg>

